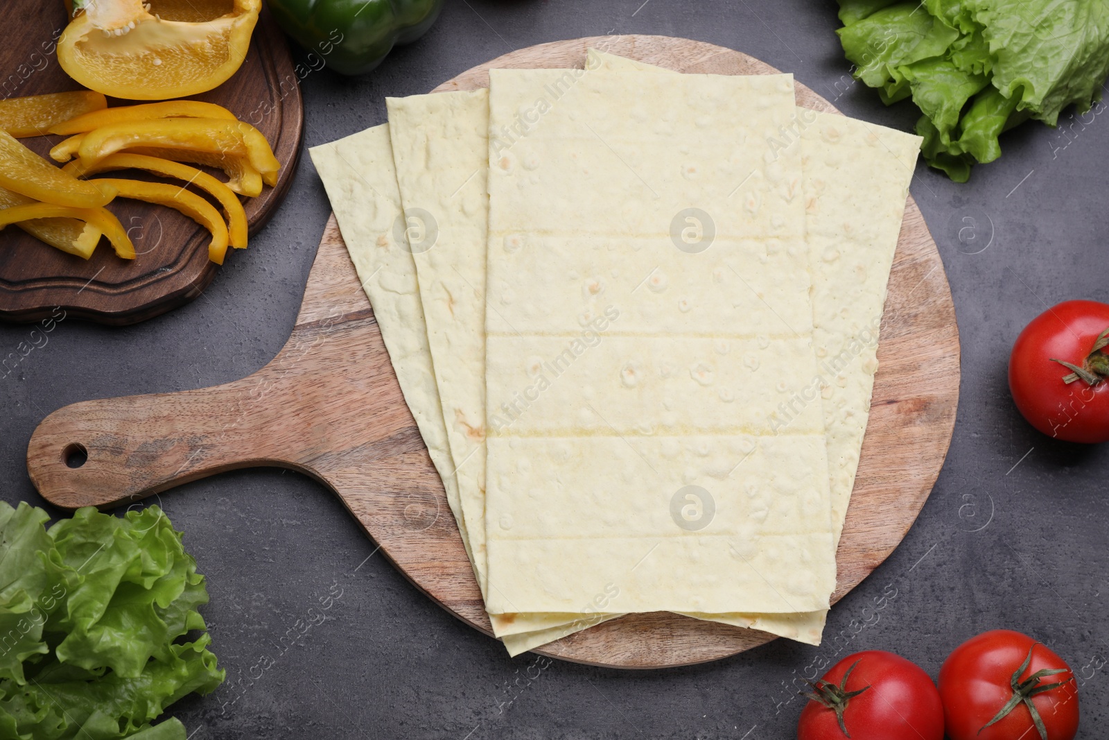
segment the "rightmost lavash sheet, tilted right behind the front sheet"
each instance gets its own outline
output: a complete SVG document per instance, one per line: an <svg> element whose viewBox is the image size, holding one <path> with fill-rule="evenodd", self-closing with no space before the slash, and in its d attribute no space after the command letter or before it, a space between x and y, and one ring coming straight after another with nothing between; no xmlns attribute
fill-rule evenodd
<svg viewBox="0 0 1109 740"><path fill-rule="evenodd" d="M587 65L670 72L596 49L589 50ZM780 142L791 146L798 141L804 156L813 339L838 545L869 415L886 284L920 139L798 107L796 126ZM803 395L798 401L806 403ZM787 407L779 419L788 424L792 416ZM820 643L826 611L689 616Z"/></svg>

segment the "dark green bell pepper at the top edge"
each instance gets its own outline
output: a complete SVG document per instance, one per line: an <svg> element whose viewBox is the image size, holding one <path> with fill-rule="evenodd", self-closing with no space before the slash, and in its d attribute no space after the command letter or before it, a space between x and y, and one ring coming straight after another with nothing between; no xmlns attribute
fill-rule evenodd
<svg viewBox="0 0 1109 740"><path fill-rule="evenodd" d="M343 74L363 74L420 38L442 0L267 0L277 23Z"/></svg>

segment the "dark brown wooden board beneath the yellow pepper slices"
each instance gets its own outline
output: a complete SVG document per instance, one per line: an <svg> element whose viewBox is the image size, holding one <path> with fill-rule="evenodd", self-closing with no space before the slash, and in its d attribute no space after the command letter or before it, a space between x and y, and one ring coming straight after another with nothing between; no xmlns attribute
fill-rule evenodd
<svg viewBox="0 0 1109 740"><path fill-rule="evenodd" d="M0 10L0 23L6 21L9 27L26 29L26 33L0 48L0 69L17 71L7 84L0 80L3 97L80 89L58 65L52 52L52 39L65 23L61 2L9 0ZM29 72L26 78L19 72L21 68ZM267 10L263 10L238 72L215 90L192 99L223 105L257 128L282 163L275 187L265 187L258 197L241 199L253 234L285 197L304 128L301 89L288 45ZM131 103L109 100L109 105ZM49 135L22 142L47 156L62 139ZM224 179L222 173L207 171ZM134 171L111 176L152 180ZM135 260L116 257L106 240L85 261L42 244L14 226L0 232L0 318L33 322L61 306L68 316L102 324L134 324L189 303L218 273L220 266L207 259L208 232L195 221L172 209L123 199L113 202L110 210L134 242L139 254ZM236 259L234 252L227 251L227 261Z"/></svg>

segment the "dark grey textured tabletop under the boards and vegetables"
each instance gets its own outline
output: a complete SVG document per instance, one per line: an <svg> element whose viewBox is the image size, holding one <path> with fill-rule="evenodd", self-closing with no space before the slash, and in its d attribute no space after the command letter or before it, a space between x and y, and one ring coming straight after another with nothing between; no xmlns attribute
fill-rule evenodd
<svg viewBox="0 0 1109 740"><path fill-rule="evenodd" d="M384 122L386 95L427 92L520 47L608 32L731 47L793 72L849 115L909 130L907 105L887 109L851 82L837 26L835 4L817 0L447 0L423 40L368 77L306 77L305 144ZM1008 627L1048 642L1082 673L1079 737L1103 737L1097 727L1109 719L1109 677L1097 668L1109 657L1109 505L1099 488L1109 447L1034 432L1005 376L1013 341L1048 305L1109 300L1109 123L1091 118L1082 126L1065 116L1074 124L1068 135L1020 126L1003 136L1004 156L964 185L918 166L912 191L939 244L963 342L958 422L916 525L832 610L822 647L777 640L714 663L647 672L509 659L375 555L318 484L242 470L161 495L208 578L204 615L228 673L215 693L172 711L194 740L792 738L803 703L793 682L818 675L814 667L875 648L935 676L960 641ZM304 156L276 217L196 302L125 328L62 322L0 376L3 498L43 504L24 455L31 432L55 408L214 385L273 357L293 326L328 212ZM960 241L965 217L977 226ZM0 325L0 355L30 331ZM282 641L329 591L342 596L327 620ZM263 658L274 661L266 670Z"/></svg>

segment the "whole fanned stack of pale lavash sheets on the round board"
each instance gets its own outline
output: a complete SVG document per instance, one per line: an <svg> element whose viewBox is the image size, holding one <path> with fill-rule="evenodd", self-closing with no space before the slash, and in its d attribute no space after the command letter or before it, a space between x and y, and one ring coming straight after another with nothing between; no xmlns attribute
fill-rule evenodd
<svg viewBox="0 0 1109 740"><path fill-rule="evenodd" d="M920 140L590 51L312 150L512 655L818 643Z"/></svg>

